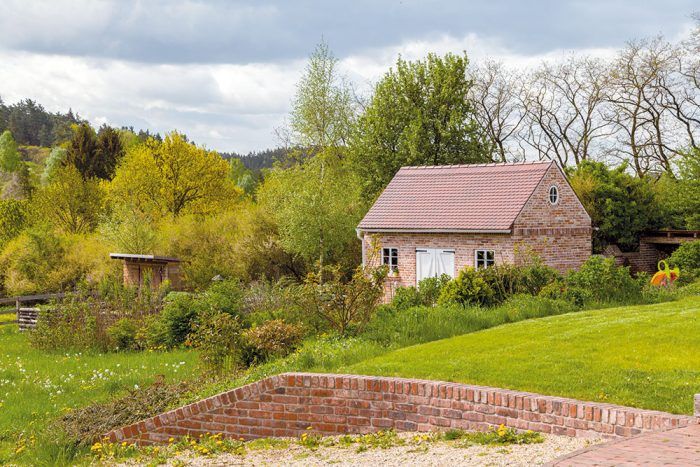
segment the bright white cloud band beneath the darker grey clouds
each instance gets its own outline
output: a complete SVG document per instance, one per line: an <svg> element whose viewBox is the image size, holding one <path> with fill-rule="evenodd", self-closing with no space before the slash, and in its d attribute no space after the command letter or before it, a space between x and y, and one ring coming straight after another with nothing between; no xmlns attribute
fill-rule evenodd
<svg viewBox="0 0 700 467"><path fill-rule="evenodd" d="M463 50L476 61L489 57L517 67L567 52L525 56L494 38L438 35L363 50L342 58L340 67L367 94L399 55L413 60ZM610 56L615 49L580 52ZM160 65L0 49L0 63L6 102L32 98L51 111L71 107L95 125L177 129L213 149L247 152L278 143L274 129L289 112L305 61Z"/></svg>

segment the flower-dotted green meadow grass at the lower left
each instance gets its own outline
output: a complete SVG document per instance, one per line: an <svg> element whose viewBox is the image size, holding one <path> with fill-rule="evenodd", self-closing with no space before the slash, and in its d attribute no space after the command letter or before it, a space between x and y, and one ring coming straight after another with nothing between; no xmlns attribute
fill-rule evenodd
<svg viewBox="0 0 700 467"><path fill-rule="evenodd" d="M197 354L191 350L51 353L30 347L17 326L0 326L0 459L22 433L37 433L70 408L150 384L156 375L172 382L198 371Z"/></svg>

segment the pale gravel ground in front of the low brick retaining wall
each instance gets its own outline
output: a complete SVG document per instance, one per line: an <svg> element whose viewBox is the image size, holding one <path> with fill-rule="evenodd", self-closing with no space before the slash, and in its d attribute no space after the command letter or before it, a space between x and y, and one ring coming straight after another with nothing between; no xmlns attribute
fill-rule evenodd
<svg viewBox="0 0 700 467"><path fill-rule="evenodd" d="M414 434L401 433L402 438ZM357 452L357 447L320 447L316 451L291 443L284 449L250 450L243 456L223 454L214 457L180 456L169 465L228 466L228 465L489 465L532 466L542 465L567 453L603 439L580 439L546 435L544 443L510 446L460 447L459 441L438 441L422 445L404 445L387 449L371 448Z"/></svg>

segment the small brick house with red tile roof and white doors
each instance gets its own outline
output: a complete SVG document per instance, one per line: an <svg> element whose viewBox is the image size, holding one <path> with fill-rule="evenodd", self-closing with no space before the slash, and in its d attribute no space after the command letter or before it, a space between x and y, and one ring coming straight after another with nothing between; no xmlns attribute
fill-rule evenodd
<svg viewBox="0 0 700 467"><path fill-rule="evenodd" d="M357 228L364 265L398 286L536 254L565 272L591 255L591 218L554 162L403 167Z"/></svg>

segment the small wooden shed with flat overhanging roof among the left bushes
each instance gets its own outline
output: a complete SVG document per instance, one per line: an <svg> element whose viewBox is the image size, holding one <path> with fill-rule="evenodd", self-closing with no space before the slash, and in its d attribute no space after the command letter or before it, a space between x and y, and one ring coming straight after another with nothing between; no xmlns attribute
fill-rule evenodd
<svg viewBox="0 0 700 467"><path fill-rule="evenodd" d="M181 261L178 258L129 253L110 253L109 257L123 261L125 285L141 287L146 277L150 276L151 287L154 289L166 280L170 281L174 290L182 288Z"/></svg>

